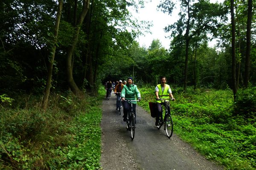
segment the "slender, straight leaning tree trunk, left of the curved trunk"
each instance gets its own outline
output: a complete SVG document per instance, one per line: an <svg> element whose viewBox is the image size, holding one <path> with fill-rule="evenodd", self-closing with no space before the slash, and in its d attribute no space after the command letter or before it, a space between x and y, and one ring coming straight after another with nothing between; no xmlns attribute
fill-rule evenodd
<svg viewBox="0 0 256 170"><path fill-rule="evenodd" d="M53 40L53 47L52 51L50 52L49 55L49 62L48 62L48 67L47 67L47 82L46 82L46 87L44 90L44 103L43 103L43 109L46 111L47 105L48 105L48 98L49 98L49 93L50 93L50 88L51 88L51 82L52 82L52 67L53 67L53 62L54 62L54 57L55 57L55 50L56 50L56 43L58 40L58 28L60 25L60 20L61 20L61 11L62 11L62 4L63 0L58 0L58 11L56 14L56 21L55 21L55 28L54 28L54 40Z"/></svg>

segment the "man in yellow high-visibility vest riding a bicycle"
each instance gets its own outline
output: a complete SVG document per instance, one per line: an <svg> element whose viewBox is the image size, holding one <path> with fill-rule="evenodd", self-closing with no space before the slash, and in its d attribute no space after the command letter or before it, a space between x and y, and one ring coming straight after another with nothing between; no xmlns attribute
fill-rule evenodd
<svg viewBox="0 0 256 170"><path fill-rule="evenodd" d="M155 95L157 97L157 117L156 117L156 123L155 125L158 126L158 119L162 113L162 105L164 102L162 100L159 100L159 98L168 100L169 97L171 97L173 100L172 90L169 85L166 84L167 79L166 77L161 77L161 84L157 85L155 87Z"/></svg>

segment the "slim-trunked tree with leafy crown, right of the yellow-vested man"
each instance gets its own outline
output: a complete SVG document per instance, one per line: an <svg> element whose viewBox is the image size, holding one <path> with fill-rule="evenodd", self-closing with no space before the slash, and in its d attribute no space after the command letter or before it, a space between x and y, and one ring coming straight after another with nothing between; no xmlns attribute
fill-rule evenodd
<svg viewBox="0 0 256 170"><path fill-rule="evenodd" d="M161 7L164 12L171 14L174 4L168 4L169 6L164 2L161 3L159 7ZM180 6L183 8L179 13L180 19L176 23L166 27L165 30L172 31L172 37L180 37L180 42L185 44L183 89L186 91L191 40L193 37L198 37L198 41L203 38L206 39L206 33L215 33L218 26L217 18L220 17L222 13L221 11L212 11L213 8L218 9L219 6L218 4L209 3L207 0L200 0L196 3L193 0L181 0ZM183 23L186 24L184 25ZM184 31L185 34L182 35Z"/></svg>

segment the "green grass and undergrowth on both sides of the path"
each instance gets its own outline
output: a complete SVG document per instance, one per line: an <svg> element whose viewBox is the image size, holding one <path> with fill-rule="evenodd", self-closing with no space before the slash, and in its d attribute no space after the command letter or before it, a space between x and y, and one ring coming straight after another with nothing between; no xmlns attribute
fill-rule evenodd
<svg viewBox="0 0 256 170"><path fill-rule="evenodd" d="M148 102L154 101L154 87L139 90L139 105L150 113ZM171 102L174 132L181 139L226 170L256 168L255 113L249 117L233 114L232 91L172 91L176 98ZM4 96L7 104L0 106L0 169L101 169L104 88L99 93L83 100L69 93L51 95L46 113L41 111L38 96L15 100Z"/></svg>

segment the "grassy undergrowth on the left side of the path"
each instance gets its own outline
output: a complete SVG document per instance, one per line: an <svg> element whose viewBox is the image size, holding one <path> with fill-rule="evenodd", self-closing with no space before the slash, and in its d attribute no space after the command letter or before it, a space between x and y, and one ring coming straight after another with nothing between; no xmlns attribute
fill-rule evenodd
<svg viewBox="0 0 256 170"><path fill-rule="evenodd" d="M45 113L36 96L2 106L0 169L100 169L102 95L52 94Z"/></svg>

